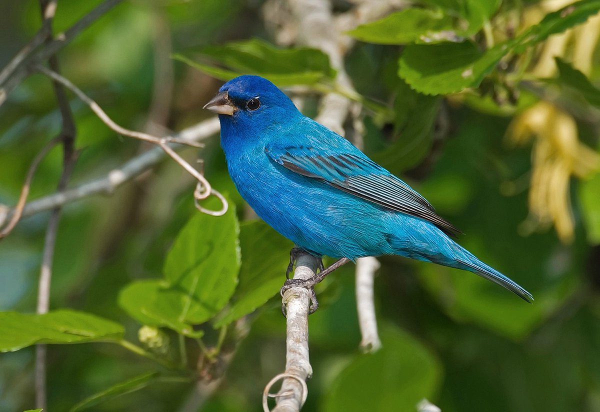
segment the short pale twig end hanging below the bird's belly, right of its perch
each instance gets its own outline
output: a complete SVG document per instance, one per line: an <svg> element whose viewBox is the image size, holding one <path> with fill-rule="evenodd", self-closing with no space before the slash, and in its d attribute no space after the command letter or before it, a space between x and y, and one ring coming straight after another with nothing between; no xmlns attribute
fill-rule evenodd
<svg viewBox="0 0 600 412"><path fill-rule="evenodd" d="M361 328L361 349L365 352L374 352L381 347L373 300L373 281L380 266L371 256L356 260L356 311Z"/></svg>

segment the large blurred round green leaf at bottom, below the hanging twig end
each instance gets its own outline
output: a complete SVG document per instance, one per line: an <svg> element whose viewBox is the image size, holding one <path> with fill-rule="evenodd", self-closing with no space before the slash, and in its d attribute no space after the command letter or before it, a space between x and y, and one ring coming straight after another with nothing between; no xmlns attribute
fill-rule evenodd
<svg viewBox="0 0 600 412"><path fill-rule="evenodd" d="M403 330L384 326L383 347L361 354L338 374L325 394L328 412L416 411L421 399L439 387L436 357Z"/></svg>

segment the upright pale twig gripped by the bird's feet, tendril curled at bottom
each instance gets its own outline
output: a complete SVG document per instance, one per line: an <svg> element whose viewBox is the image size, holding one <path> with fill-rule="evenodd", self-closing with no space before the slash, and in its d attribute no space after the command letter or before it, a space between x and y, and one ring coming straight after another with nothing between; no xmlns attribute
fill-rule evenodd
<svg viewBox="0 0 600 412"><path fill-rule="evenodd" d="M296 259L294 279L310 279L315 275L319 260L313 255L303 253ZM268 397L274 397L277 406L273 412L298 412L308 395L305 381L313 375L308 358L308 309L310 292L304 287L289 288L283 294L286 306L286 371L277 375L263 391L263 409L269 412ZM274 383L283 379L278 393L269 392Z"/></svg>

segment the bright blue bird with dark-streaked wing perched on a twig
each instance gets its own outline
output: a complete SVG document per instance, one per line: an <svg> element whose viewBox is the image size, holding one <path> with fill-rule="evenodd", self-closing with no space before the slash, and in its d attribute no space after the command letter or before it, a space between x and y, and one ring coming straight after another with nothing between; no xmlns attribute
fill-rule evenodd
<svg viewBox="0 0 600 412"><path fill-rule="evenodd" d="M532 302L528 291L455 243L448 235L457 228L424 197L302 115L269 80L236 77L205 109L219 115L221 146L239 193L299 248L343 263L401 255L457 267Z"/></svg>

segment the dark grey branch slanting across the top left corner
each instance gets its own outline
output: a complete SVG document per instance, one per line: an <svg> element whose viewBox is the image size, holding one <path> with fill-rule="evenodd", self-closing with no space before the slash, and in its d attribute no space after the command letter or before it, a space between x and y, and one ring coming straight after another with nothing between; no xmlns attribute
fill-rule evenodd
<svg viewBox="0 0 600 412"><path fill-rule="evenodd" d="M22 56L19 56L17 59L18 61L14 63L13 61L15 58L13 58L13 61L9 63L10 67L5 67L2 71L5 81L3 85L0 83L0 85L2 85L2 88L0 88L0 106L2 106L2 103L4 103L8 95L23 81L23 79L33 73L34 68L32 68L32 65L41 64L41 62L49 59L50 56L54 55L58 50L70 43L80 32L88 28L89 25L94 23L104 13L115 7L121 1L122 0L106 0L100 3L92 11L83 16L82 19L77 20L77 22L67 29L67 31L57 34L55 40L47 43L40 51L33 55L31 53L34 49L26 50L26 52L23 52L22 50L19 53L22 54ZM28 53L28 55L25 56L25 53Z"/></svg>

